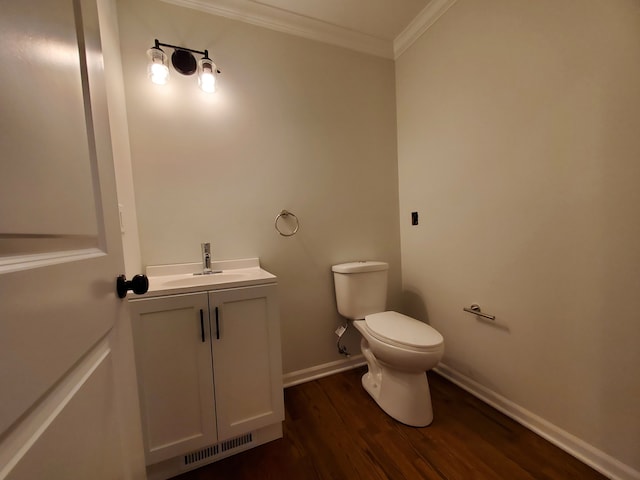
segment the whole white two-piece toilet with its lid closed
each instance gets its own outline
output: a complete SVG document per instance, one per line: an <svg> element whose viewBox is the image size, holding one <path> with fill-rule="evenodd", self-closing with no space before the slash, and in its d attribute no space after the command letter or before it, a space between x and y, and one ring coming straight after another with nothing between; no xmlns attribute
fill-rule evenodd
<svg viewBox="0 0 640 480"><path fill-rule="evenodd" d="M351 262L331 270L338 312L362 334L360 347L369 367L362 386L396 420L429 425L433 410L425 372L442 358L442 335L419 320L384 311L387 263Z"/></svg>

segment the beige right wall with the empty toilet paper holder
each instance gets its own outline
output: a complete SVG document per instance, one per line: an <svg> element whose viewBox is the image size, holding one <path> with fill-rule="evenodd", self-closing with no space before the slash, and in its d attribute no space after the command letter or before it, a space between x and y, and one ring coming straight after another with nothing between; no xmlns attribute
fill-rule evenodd
<svg viewBox="0 0 640 480"><path fill-rule="evenodd" d="M408 310L447 366L636 470L639 59L636 1L459 0L396 62Z"/></svg>

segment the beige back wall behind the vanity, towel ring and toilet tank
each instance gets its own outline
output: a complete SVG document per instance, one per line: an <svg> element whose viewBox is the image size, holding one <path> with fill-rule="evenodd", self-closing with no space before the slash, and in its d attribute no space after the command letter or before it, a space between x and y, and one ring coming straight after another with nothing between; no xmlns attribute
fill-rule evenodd
<svg viewBox="0 0 640 480"><path fill-rule="evenodd" d="M143 265L199 261L203 241L215 259L260 257L279 278L285 373L341 359L332 264L388 261L399 304L393 62L159 1L118 15ZM208 49L219 92L173 70L152 85L154 38Z"/></svg>

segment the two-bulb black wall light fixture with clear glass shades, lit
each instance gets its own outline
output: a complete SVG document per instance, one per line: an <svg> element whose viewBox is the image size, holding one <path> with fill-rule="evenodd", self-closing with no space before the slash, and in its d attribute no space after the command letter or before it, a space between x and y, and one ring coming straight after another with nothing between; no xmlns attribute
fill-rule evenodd
<svg viewBox="0 0 640 480"><path fill-rule="evenodd" d="M216 82L220 70L209 58L208 50L192 50L191 48L178 47L177 45L161 43L158 39L155 40L155 45L147 50L147 56L149 57L147 74L153 83L164 85L169 80L167 54L160 47L173 48L171 64L179 73L193 75L197 71L200 88L207 93L216 91ZM194 53L203 57L196 62L193 56Z"/></svg>

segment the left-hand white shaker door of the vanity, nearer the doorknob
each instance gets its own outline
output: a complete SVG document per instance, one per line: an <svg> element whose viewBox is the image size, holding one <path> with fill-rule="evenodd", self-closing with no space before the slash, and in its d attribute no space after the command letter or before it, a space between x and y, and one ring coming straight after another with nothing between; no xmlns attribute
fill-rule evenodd
<svg viewBox="0 0 640 480"><path fill-rule="evenodd" d="M147 465L216 443L207 294L129 304Z"/></svg>

